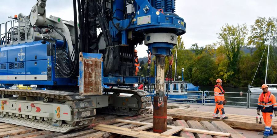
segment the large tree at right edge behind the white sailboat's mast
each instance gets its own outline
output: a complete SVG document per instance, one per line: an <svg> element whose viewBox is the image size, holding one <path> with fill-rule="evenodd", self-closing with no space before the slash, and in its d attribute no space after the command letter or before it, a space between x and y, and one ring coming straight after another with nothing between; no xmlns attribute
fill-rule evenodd
<svg viewBox="0 0 277 138"><path fill-rule="evenodd" d="M275 20L275 21L274 21ZM276 19L265 17L258 17L255 20L254 25L251 25L251 36L248 37L248 45L251 47L255 47L256 51L253 53L252 60L255 63L255 67L252 69L253 76L258 68L260 59L262 58L264 50L269 45L269 41L273 40L273 44L270 46L270 56L269 56L269 68L272 69L271 75L268 75L268 82L275 82L276 83L276 54L274 53L274 42L276 34ZM263 55L261 63L259 65L257 74L254 79L254 85L260 86L264 83L265 80L265 72L266 72L266 63L267 63L267 52ZM270 71L269 71L270 72ZM270 73L269 73L270 74Z"/></svg>

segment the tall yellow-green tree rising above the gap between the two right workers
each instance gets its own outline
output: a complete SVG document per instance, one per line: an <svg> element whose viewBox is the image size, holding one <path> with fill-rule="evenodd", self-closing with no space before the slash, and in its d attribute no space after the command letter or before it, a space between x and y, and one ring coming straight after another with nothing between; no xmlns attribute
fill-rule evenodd
<svg viewBox="0 0 277 138"><path fill-rule="evenodd" d="M232 84L240 83L239 78L239 58L240 48L244 46L244 41L247 35L246 24L243 25L225 25L221 28L221 32L217 33L219 44L226 48L225 53L229 61L228 70L234 72L232 74ZM228 72L229 72L228 71Z"/></svg>

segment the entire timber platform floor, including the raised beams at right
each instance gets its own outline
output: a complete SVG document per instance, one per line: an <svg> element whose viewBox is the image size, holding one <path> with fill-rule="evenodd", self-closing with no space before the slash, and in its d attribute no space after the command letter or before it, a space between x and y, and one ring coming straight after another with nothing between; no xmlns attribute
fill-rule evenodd
<svg viewBox="0 0 277 138"><path fill-rule="evenodd" d="M192 108L191 108L192 107ZM168 103L167 131L158 134L153 133L153 114L143 114L135 117L101 114L96 115L94 124L82 130L58 133L27 128L23 126L0 123L1 137L38 137L38 138L108 138L108 137L188 137L188 138L244 138L260 137L255 131L263 131L264 123L257 124L255 116L227 114L229 119L213 119L208 110L212 106L196 106L188 104ZM231 110L231 109L229 109ZM232 110L240 110L234 108ZM242 109L241 109L242 110ZM255 109L253 109L254 111ZM251 110L252 111L252 110ZM234 111L235 112L235 111ZM263 120L262 120L263 121ZM276 130L276 120L273 119L273 129ZM235 129L239 128L239 129ZM247 129L252 131L244 131ZM242 135L240 132L243 132ZM271 136L272 137L272 136Z"/></svg>

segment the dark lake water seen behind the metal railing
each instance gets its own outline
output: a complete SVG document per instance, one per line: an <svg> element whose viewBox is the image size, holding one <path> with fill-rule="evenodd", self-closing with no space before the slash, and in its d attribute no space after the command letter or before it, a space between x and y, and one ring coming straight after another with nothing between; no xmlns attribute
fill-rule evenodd
<svg viewBox="0 0 277 138"><path fill-rule="evenodd" d="M215 88L214 86L200 86L200 89L202 91L206 91L206 90L214 91L214 88ZM234 88L234 87L224 87L223 86L223 89L226 92L224 94L224 97L227 100L227 105L239 105L239 106L246 107L246 103L241 103L241 102L247 102L247 92L248 92L247 87ZM236 92L238 94L228 93L228 92ZM243 93L240 93L240 92L243 92ZM214 96L213 93L210 93L210 95ZM258 98L259 98L259 94L250 94L250 98L248 98L248 100L250 100L250 105L252 107L257 106Z"/></svg>

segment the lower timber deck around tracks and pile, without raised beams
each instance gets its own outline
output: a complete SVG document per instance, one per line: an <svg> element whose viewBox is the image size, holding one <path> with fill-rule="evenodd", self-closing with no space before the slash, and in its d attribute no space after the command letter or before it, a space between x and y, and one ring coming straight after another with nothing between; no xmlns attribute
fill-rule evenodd
<svg viewBox="0 0 277 138"><path fill-rule="evenodd" d="M95 123L88 128L69 133L49 132L6 123L0 124L0 137L22 138L107 138L107 137L244 137L222 121L173 121L168 117L168 130L162 134L153 133L153 115L145 114L136 117L99 115ZM175 125L174 125L175 124ZM220 127L219 127L220 126ZM149 130L149 131L146 131ZM177 132L177 133L176 133ZM174 135L174 136L173 136Z"/></svg>

